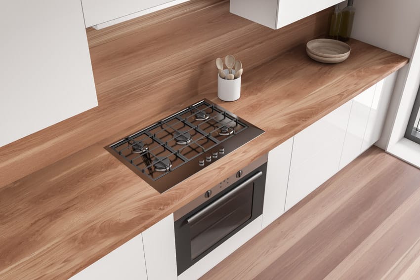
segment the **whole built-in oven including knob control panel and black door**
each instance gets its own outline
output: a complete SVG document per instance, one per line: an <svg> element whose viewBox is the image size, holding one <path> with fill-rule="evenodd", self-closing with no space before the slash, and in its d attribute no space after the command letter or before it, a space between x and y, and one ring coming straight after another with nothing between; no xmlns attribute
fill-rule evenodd
<svg viewBox="0 0 420 280"><path fill-rule="evenodd" d="M262 214L268 155L174 213L178 275Z"/></svg>

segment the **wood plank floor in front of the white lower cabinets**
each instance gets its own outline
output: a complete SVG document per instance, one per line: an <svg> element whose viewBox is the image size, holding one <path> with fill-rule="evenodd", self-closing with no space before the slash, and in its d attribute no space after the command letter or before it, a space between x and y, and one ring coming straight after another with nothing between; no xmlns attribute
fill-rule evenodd
<svg viewBox="0 0 420 280"><path fill-rule="evenodd" d="M420 170L371 148L202 279L420 279Z"/></svg>

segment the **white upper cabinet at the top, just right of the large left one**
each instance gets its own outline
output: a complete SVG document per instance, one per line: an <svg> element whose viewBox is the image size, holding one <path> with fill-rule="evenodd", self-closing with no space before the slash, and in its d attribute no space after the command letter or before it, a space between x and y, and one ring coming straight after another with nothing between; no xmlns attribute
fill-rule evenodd
<svg viewBox="0 0 420 280"><path fill-rule="evenodd" d="M86 27L143 11L173 0L82 0Z"/></svg>

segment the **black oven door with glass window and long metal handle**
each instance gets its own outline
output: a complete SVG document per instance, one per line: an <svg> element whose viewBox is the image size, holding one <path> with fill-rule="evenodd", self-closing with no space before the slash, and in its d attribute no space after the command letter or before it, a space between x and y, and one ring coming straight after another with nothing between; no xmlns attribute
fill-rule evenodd
<svg viewBox="0 0 420 280"><path fill-rule="evenodd" d="M231 186L175 222L178 275L262 214L265 172Z"/></svg>

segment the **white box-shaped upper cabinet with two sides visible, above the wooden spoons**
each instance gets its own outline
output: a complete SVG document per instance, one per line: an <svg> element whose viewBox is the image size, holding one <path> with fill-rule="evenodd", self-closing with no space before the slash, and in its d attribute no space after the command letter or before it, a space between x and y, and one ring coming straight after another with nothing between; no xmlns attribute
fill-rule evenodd
<svg viewBox="0 0 420 280"><path fill-rule="evenodd" d="M341 0L230 0L230 12L279 29Z"/></svg>

